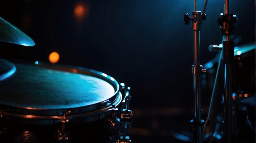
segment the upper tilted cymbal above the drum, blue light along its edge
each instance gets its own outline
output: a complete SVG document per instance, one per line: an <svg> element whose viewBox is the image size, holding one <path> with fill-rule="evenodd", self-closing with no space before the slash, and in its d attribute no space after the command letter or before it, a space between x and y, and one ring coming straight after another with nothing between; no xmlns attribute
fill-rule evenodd
<svg viewBox="0 0 256 143"><path fill-rule="evenodd" d="M0 41L25 46L35 45L34 40L2 17L0 17Z"/></svg>

